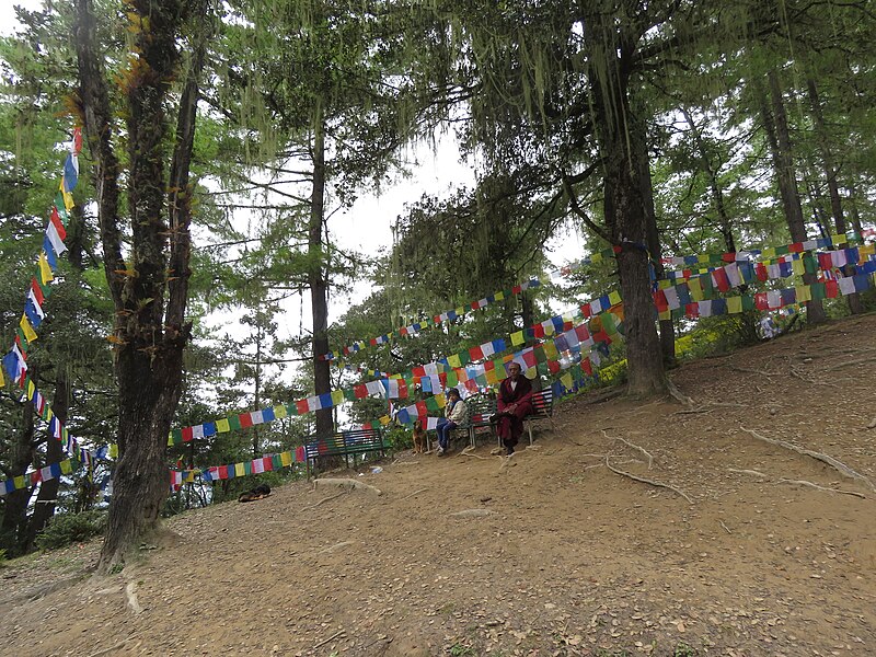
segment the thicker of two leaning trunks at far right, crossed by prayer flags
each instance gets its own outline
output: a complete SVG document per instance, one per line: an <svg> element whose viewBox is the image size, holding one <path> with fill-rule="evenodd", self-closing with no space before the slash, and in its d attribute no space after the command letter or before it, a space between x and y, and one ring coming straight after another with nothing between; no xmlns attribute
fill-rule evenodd
<svg viewBox="0 0 876 657"><path fill-rule="evenodd" d="M794 173L791 135L787 128L785 103L782 100L782 90L779 84L779 73L771 70L768 79L770 83L769 101L763 92L760 93L763 127L772 151L773 169L779 182L779 193L782 196L782 207L785 211L791 239L794 242L805 242L807 239L806 224L803 220L797 178ZM803 275L803 281L807 285L811 285L816 280L815 274ZM827 319L825 307L820 300L806 303L806 319L810 324L819 324Z"/></svg>

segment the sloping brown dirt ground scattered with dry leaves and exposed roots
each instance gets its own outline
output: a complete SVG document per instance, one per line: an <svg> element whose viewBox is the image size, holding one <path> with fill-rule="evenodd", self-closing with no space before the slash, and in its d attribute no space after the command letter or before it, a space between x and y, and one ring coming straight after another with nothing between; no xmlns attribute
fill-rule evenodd
<svg viewBox="0 0 876 657"><path fill-rule="evenodd" d="M874 336L868 315L684 365L690 408L564 403L510 459L331 475L379 495L187 512L115 576L89 574L97 543L20 560L0 653L876 654Z"/></svg>

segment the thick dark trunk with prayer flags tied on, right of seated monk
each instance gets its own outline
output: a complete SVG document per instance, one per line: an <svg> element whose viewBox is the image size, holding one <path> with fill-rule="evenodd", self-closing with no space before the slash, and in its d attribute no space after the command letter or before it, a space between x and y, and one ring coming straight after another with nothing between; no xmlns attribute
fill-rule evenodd
<svg viewBox="0 0 876 657"><path fill-rule="evenodd" d="M648 227L642 194L641 161L647 161L642 123L631 114L627 92L634 44L625 43L613 12L580 2L588 27L591 61L588 82L592 118L603 162L606 223L620 245L618 273L624 304L629 393L649 396L666 391L662 351L654 322L648 270Z"/></svg>

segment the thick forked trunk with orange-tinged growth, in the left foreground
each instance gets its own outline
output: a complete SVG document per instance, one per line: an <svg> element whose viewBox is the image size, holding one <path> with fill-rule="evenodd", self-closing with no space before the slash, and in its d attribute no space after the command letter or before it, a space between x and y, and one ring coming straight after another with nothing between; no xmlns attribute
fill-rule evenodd
<svg viewBox="0 0 876 657"><path fill-rule="evenodd" d="M182 391L183 349L191 335L191 324L185 322L191 275L188 172L209 12L206 2L199 8L181 0L129 3L138 57L125 76L130 212L126 262L119 229L120 168L112 143L103 56L96 50L91 0L77 0L77 8L79 97L95 164L104 268L116 310L113 342L119 390L119 459L99 564L107 572L124 565L142 537L157 528L169 488L165 446ZM165 108L180 73L181 32L192 10L201 23L193 33L198 43L183 78L166 175L171 139Z"/></svg>

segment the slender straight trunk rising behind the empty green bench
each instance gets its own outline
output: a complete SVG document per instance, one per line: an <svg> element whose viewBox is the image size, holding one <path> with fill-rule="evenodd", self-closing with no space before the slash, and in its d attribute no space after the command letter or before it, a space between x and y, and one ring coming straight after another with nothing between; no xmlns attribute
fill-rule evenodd
<svg viewBox="0 0 876 657"><path fill-rule="evenodd" d="M325 250L322 227L325 219L325 117L321 104L316 105L313 122L313 193L310 201L310 231L308 235L308 284L310 309L313 314L313 389L315 394L332 391L331 362L320 358L328 353L328 286L325 280ZM316 411L316 435L334 433L331 408Z"/></svg>

